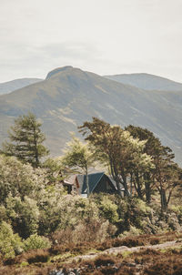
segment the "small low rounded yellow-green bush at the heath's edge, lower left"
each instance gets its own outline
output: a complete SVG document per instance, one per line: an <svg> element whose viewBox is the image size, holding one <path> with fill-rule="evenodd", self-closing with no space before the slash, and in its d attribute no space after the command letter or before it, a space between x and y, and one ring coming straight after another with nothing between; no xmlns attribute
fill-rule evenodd
<svg viewBox="0 0 182 275"><path fill-rule="evenodd" d="M31 235L28 239L24 241L24 250L38 250L46 249L51 247L51 242L49 239L38 236L37 234Z"/></svg>

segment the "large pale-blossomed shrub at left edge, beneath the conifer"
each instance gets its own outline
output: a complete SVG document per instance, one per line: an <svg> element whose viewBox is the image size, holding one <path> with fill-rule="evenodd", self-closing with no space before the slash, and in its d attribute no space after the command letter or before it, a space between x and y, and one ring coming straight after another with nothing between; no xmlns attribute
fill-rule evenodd
<svg viewBox="0 0 182 275"><path fill-rule="evenodd" d="M45 170L32 168L14 157L0 155L0 203L11 194L14 198L33 198L35 193L46 185Z"/></svg>

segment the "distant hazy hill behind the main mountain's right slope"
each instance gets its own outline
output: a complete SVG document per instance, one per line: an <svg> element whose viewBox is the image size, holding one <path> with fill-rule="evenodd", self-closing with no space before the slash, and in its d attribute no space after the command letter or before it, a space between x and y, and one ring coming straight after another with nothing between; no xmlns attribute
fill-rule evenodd
<svg viewBox="0 0 182 275"><path fill-rule="evenodd" d="M145 90L182 91L182 83L149 74L123 74L106 78Z"/></svg>

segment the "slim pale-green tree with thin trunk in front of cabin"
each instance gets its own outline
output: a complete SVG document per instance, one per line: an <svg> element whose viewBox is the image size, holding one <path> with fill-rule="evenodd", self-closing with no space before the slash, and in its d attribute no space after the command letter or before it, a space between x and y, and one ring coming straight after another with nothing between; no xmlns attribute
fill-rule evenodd
<svg viewBox="0 0 182 275"><path fill-rule="evenodd" d="M73 136L72 140L67 143L63 164L68 168L81 168L84 171L86 174L87 197L89 196L88 168L93 167L94 163L95 156L89 150L88 145Z"/></svg>

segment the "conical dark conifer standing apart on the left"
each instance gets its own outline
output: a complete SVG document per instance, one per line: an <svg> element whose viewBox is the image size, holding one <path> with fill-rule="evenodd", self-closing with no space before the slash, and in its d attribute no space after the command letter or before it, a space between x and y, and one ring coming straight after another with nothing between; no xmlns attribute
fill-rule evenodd
<svg viewBox="0 0 182 275"><path fill-rule="evenodd" d="M49 152L43 145L45 135L41 132L41 125L32 113L16 118L15 126L8 132L10 142L3 143L1 152L29 162L35 168L40 166L40 158Z"/></svg>

